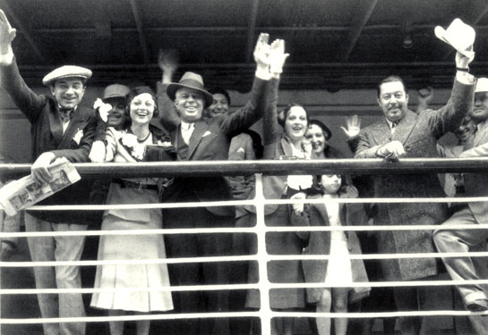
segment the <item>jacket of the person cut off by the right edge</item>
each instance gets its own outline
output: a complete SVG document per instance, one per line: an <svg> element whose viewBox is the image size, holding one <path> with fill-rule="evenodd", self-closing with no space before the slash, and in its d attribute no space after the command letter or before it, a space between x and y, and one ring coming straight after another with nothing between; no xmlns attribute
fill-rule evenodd
<svg viewBox="0 0 488 335"><path fill-rule="evenodd" d="M480 124L473 139L473 147L463 152L460 157L488 156L488 121ZM464 173L466 197L486 197L488 195L488 174ZM478 223L488 223L488 203L470 202L469 208Z"/></svg>

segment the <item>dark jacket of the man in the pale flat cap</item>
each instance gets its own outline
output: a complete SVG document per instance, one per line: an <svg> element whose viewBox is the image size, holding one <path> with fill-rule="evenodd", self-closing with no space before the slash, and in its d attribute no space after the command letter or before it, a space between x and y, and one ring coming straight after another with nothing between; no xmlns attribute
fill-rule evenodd
<svg viewBox="0 0 488 335"><path fill-rule="evenodd" d="M88 155L97 127L91 108L79 105L63 134L55 99L34 93L22 80L15 59L11 65L0 66L0 87L30 121L33 159L53 152L56 157L66 157L72 163L90 162ZM39 205L89 205L91 184L91 180L80 180ZM47 222L87 224L83 211L31 211L30 214Z"/></svg>

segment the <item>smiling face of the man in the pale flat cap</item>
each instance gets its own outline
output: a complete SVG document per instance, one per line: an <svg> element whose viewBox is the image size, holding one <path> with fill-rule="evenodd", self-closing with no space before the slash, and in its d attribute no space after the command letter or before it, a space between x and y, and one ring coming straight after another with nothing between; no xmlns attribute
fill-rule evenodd
<svg viewBox="0 0 488 335"><path fill-rule="evenodd" d="M56 80L50 89L51 94L56 98L56 102L65 109L79 105L85 94L85 85L77 77Z"/></svg>

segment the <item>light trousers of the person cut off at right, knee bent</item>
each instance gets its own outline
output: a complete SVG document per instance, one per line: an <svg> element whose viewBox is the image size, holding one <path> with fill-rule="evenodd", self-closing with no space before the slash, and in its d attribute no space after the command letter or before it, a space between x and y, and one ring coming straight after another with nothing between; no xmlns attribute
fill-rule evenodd
<svg viewBox="0 0 488 335"><path fill-rule="evenodd" d="M433 241L440 253L467 253L473 247L486 241L488 230L448 230L444 227L452 224L478 223L475 215L468 206L453 214L448 221L433 232ZM475 281L479 276L475 271L475 264L471 257L443 257L450 278L453 281ZM470 304L476 299L486 299L484 289L479 284L467 284L457 286L465 304Z"/></svg>

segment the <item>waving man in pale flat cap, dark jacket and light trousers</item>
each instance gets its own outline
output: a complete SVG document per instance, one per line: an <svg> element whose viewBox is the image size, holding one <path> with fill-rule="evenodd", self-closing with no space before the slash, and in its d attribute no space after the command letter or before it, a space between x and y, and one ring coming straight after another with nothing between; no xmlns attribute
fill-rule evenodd
<svg viewBox="0 0 488 335"><path fill-rule="evenodd" d="M90 147L97 121L93 110L80 104L85 93L85 82L91 71L79 66L57 68L44 77L50 95L37 95L22 80L15 62L12 29L0 10L0 87L3 88L31 124L31 172L39 183L48 183L52 176L47 167L56 158L70 162L89 162ZM64 188L41 205L90 204L90 181ZM82 211L26 211L27 231L86 230L87 220ZM34 262L78 261L85 243L84 236L56 236L28 238L30 256ZM37 289L80 289L78 266L36 266L34 275ZM81 293L39 294L43 318L83 317L85 310ZM84 334L84 322L43 323L45 334Z"/></svg>

